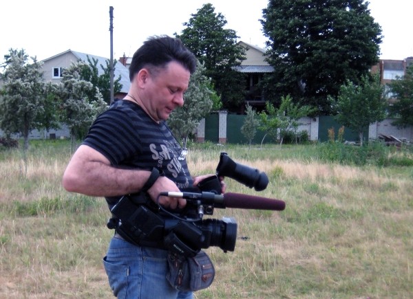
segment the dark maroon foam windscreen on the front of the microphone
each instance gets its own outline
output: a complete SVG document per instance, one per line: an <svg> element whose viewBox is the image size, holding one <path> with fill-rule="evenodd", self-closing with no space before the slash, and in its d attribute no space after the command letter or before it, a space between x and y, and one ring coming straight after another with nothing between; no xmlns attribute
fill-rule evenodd
<svg viewBox="0 0 413 299"><path fill-rule="evenodd" d="M238 193L224 193L224 206L226 208L240 208L253 210L275 210L282 211L286 208L286 203L279 199L269 199L253 195Z"/></svg>

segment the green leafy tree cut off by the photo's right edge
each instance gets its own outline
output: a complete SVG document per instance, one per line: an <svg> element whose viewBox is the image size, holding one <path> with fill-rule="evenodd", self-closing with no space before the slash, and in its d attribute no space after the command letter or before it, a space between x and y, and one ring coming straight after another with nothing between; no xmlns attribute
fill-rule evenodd
<svg viewBox="0 0 413 299"><path fill-rule="evenodd" d="M396 101L390 105L392 115L398 117L396 126L413 126L413 63L406 69L405 76L390 83L390 91Z"/></svg>

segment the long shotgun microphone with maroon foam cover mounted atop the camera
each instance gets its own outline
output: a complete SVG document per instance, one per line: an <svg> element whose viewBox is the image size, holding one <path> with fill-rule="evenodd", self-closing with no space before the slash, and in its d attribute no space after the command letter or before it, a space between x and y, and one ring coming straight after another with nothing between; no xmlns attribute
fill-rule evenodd
<svg viewBox="0 0 413 299"><path fill-rule="evenodd" d="M213 192L160 192L160 196L178 197L183 199L200 199L202 203L218 203L224 208L275 211L282 211L286 208L286 203L279 199L269 199L266 197L257 197L231 192L224 193L223 195L216 195Z"/></svg>

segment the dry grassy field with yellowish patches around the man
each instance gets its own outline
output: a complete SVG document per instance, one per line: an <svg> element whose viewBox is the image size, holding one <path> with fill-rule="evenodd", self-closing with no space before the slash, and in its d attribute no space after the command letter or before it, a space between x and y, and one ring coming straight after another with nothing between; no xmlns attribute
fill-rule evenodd
<svg viewBox="0 0 413 299"><path fill-rule="evenodd" d="M193 175L214 173L226 151L270 179L255 192L227 178L227 192L286 202L282 212L215 209L237 220L237 243L206 250L216 276L195 298L413 298L411 152L405 166L354 166L320 159L320 148L190 148ZM0 151L0 298L113 298L109 211L63 190L70 155L64 140L33 141L25 158Z"/></svg>

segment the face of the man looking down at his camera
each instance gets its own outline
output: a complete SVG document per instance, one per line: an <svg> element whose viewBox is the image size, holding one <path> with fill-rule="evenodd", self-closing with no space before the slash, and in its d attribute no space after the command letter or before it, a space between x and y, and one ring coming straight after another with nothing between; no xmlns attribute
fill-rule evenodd
<svg viewBox="0 0 413 299"><path fill-rule="evenodd" d="M155 76L147 75L142 100L153 120L167 120L173 109L184 104L184 91L188 89L190 76L190 72L175 61Z"/></svg>

